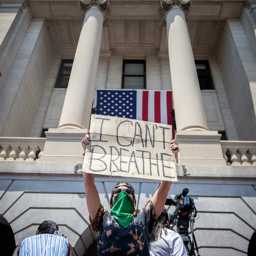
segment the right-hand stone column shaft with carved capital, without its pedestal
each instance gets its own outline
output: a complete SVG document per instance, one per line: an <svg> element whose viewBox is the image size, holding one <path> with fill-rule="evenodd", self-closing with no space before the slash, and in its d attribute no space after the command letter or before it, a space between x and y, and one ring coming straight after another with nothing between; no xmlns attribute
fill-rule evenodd
<svg viewBox="0 0 256 256"><path fill-rule="evenodd" d="M191 0L162 0L161 5L162 18L164 14L166 17L177 131L208 130L185 19Z"/></svg>

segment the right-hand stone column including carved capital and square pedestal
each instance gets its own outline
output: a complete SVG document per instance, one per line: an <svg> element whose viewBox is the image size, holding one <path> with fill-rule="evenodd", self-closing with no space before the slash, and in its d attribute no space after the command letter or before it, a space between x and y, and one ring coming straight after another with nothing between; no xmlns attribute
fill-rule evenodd
<svg viewBox="0 0 256 256"><path fill-rule="evenodd" d="M179 165L226 165L218 131L209 131L185 15L191 0L161 0L159 25L167 27L179 145Z"/></svg>

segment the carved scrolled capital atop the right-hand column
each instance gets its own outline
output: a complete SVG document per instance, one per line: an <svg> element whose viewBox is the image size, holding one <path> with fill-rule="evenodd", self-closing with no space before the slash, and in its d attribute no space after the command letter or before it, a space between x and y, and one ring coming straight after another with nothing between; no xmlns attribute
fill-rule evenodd
<svg viewBox="0 0 256 256"><path fill-rule="evenodd" d="M159 26L166 27L166 12L175 5L178 5L183 9L185 15L188 14L188 9L192 4L192 0L160 0L160 19L158 21Z"/></svg>

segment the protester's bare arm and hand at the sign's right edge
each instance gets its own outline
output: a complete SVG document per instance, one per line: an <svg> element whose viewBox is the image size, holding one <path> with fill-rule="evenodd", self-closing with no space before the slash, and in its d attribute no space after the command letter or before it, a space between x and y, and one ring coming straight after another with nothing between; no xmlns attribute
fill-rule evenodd
<svg viewBox="0 0 256 256"><path fill-rule="evenodd" d="M177 153L179 152L179 146L177 146L173 141L171 141L171 150L174 150L175 155L177 155ZM157 219L164 208L164 204L168 196L171 184L172 182L170 181L162 180L160 187L156 190L156 193L152 198Z"/></svg>

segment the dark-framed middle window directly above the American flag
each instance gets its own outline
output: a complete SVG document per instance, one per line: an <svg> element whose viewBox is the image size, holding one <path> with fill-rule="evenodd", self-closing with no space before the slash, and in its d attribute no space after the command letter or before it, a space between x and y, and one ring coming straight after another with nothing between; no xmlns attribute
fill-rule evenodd
<svg viewBox="0 0 256 256"><path fill-rule="evenodd" d="M122 89L146 89L145 60L123 60Z"/></svg>

